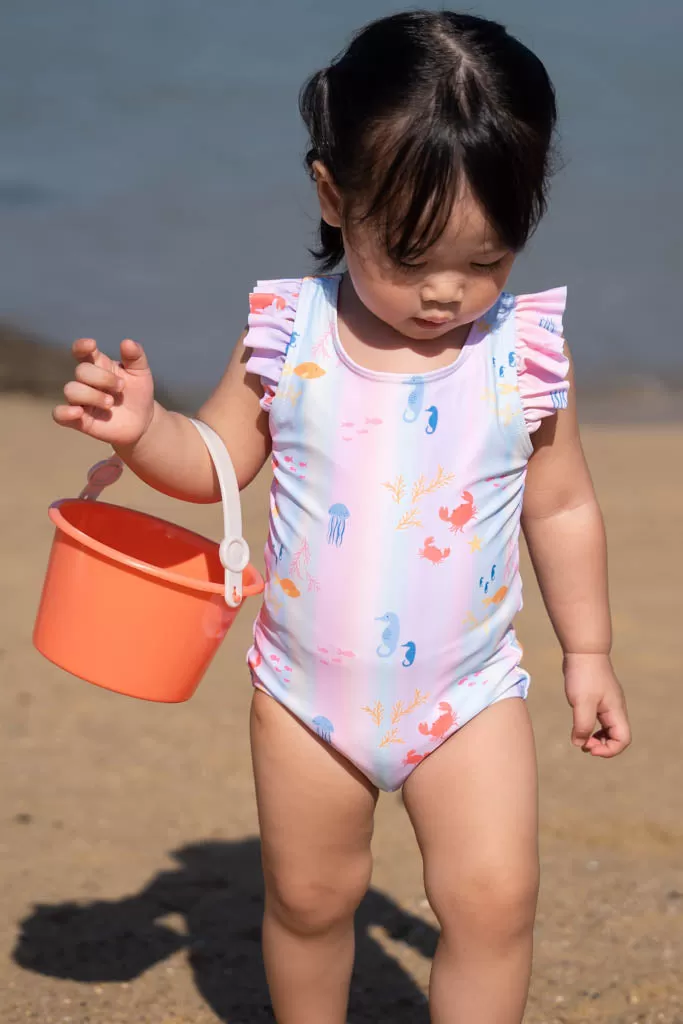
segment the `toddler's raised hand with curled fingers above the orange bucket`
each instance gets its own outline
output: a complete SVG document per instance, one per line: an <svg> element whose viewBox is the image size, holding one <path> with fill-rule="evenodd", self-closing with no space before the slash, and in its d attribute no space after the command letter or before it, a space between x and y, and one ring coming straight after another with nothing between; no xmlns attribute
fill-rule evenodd
<svg viewBox="0 0 683 1024"><path fill-rule="evenodd" d="M65 386L68 406L56 406L52 419L114 445L136 444L154 416L154 379L141 345L121 342L121 361L100 352L92 338L72 348L75 380Z"/></svg>

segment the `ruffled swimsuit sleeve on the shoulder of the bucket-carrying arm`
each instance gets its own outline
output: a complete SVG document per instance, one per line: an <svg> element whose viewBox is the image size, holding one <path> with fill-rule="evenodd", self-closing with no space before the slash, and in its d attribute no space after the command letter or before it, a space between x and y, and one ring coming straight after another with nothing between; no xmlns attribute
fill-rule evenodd
<svg viewBox="0 0 683 1024"><path fill-rule="evenodd" d="M301 280L259 281L249 296L249 331L245 348L251 349L247 372L261 378L261 408L266 412L275 396L292 332Z"/></svg>

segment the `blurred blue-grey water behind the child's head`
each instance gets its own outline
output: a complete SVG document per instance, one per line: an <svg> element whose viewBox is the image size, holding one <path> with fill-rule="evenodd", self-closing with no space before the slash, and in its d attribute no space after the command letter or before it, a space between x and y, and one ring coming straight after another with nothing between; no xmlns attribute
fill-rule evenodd
<svg viewBox="0 0 683 1024"><path fill-rule="evenodd" d="M141 341L204 391L257 278L310 269L297 92L384 0L4 0L0 313ZM683 379L680 0L481 0L545 60L564 168L517 291L569 288L580 378Z"/></svg>

